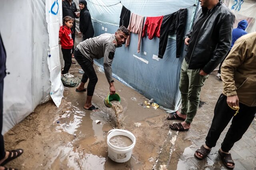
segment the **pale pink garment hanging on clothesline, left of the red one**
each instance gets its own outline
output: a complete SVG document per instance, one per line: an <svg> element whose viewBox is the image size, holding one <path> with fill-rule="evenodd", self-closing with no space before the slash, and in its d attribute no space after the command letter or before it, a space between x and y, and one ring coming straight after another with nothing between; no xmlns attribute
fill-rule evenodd
<svg viewBox="0 0 256 170"><path fill-rule="evenodd" d="M132 33L138 34L138 50L137 50L138 53L140 53L140 41L142 36L143 22L144 22L143 16L139 16L132 13L130 23L127 27ZM126 39L125 47L128 47L128 45L130 45L130 40L131 40L131 35L128 35Z"/></svg>

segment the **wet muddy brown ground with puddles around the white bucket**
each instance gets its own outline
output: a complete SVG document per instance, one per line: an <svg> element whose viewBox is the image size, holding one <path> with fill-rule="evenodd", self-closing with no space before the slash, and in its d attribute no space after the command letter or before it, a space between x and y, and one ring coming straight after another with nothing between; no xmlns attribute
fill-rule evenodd
<svg viewBox="0 0 256 170"><path fill-rule="evenodd" d="M78 64L72 64L70 73L81 77L78 69ZM98 71L97 76L93 104L100 108L98 111L83 109L86 92L66 89L59 108L52 101L42 104L4 135L7 150L24 149L22 156L6 166L21 170L152 169L169 131L166 112L139 105L148 100L116 80L115 88L124 108L119 116L122 129L135 135L136 145L128 162L110 160L106 136L115 127L115 117L114 111L103 103L109 92L106 77ZM97 119L100 124L96 124ZM137 127L135 123L141 123L141 126Z"/></svg>

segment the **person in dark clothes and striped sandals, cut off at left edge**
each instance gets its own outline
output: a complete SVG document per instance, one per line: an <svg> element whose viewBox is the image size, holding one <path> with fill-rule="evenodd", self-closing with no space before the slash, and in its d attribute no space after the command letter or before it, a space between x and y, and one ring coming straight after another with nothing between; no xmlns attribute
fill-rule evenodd
<svg viewBox="0 0 256 170"><path fill-rule="evenodd" d="M5 164L20 156L23 149L16 149L11 151L4 150L4 137L2 135L3 128L3 91L4 91L4 77L6 76L6 52L4 43L0 34L0 170L16 170L13 168L4 167Z"/></svg>

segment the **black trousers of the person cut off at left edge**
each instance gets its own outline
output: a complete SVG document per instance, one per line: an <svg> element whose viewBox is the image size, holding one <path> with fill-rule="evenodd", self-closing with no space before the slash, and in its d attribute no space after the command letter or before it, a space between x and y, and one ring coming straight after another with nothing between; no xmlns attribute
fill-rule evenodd
<svg viewBox="0 0 256 170"><path fill-rule="evenodd" d="M5 156L4 150L4 137L2 135L3 129L3 91L4 91L4 80L0 82L0 159Z"/></svg>

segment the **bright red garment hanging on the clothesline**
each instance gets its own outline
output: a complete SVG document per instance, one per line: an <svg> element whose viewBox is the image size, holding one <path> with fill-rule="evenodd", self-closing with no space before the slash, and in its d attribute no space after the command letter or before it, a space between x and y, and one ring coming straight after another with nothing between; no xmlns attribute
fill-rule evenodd
<svg viewBox="0 0 256 170"><path fill-rule="evenodd" d="M143 31L142 31L142 38L146 36L146 30L147 30L147 35L148 39L153 39L154 36L157 36L160 38L160 27L162 24L164 16L160 17L147 17Z"/></svg>

